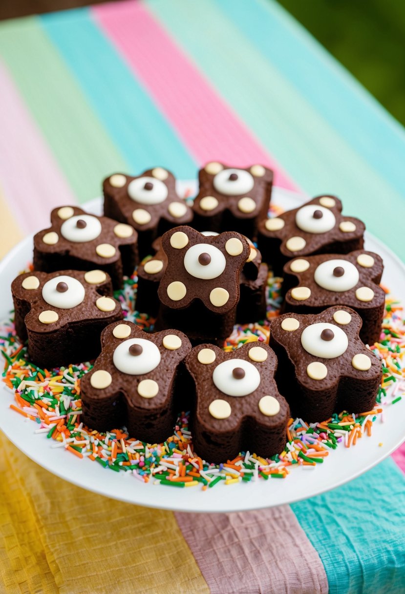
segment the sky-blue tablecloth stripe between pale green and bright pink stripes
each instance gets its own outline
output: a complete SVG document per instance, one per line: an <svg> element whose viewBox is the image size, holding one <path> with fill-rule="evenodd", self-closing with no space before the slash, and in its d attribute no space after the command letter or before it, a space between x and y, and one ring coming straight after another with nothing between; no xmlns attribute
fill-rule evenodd
<svg viewBox="0 0 405 594"><path fill-rule="evenodd" d="M128 173L162 165L179 178L195 177L197 164L88 9L46 14L41 23L119 146Z"/></svg>

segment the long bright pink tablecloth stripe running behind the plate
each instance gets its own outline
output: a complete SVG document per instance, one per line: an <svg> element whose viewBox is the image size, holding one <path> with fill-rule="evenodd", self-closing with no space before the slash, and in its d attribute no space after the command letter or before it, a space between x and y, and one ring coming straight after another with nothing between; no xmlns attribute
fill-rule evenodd
<svg viewBox="0 0 405 594"><path fill-rule="evenodd" d="M276 185L296 189L144 5L103 4L91 11L198 163L261 163L274 170Z"/></svg>

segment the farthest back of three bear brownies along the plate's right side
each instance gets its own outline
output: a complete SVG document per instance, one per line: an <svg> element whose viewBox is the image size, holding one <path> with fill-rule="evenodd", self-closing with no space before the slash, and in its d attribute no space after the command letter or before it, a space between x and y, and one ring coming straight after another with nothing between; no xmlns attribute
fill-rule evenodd
<svg viewBox="0 0 405 594"><path fill-rule="evenodd" d="M363 247L365 225L341 214L335 196L318 196L303 206L259 224L258 246L279 276L291 258L312 254L348 254Z"/></svg>

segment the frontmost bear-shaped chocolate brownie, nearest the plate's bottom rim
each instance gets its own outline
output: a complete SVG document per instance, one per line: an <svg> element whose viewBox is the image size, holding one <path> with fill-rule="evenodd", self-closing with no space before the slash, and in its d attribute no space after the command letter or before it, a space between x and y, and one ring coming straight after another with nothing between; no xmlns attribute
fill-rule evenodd
<svg viewBox="0 0 405 594"><path fill-rule="evenodd" d="M268 345L257 344L227 353L205 344L186 358L195 382L193 444L207 462L248 450L270 457L286 445L290 410L274 381L277 359Z"/></svg>

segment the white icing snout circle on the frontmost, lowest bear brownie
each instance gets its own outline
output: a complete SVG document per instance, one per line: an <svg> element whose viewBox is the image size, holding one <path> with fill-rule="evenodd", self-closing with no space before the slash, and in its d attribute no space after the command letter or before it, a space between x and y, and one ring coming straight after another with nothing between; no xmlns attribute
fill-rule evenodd
<svg viewBox="0 0 405 594"><path fill-rule="evenodd" d="M235 368L241 368L245 375L238 379L233 375ZM228 359L216 366L213 382L227 396L247 396L257 390L260 384L260 372L245 359Z"/></svg>

